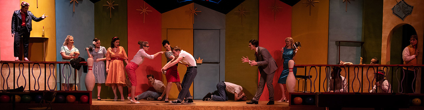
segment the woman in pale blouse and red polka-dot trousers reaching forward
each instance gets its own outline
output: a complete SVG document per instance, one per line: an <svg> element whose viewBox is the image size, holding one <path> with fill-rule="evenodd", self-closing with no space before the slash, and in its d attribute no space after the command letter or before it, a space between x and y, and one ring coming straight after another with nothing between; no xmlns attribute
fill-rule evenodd
<svg viewBox="0 0 424 110"><path fill-rule="evenodd" d="M157 52L154 55L148 55L146 53L146 51L149 51L149 42L147 41L138 41L138 44L140 45L140 50L138 50L137 54L134 55L134 58L131 60L130 63L127 64L127 66L125 66L125 70L127 72L128 75L128 79L131 81L131 96L130 97L134 97L135 96L135 86L137 85L137 77L136 77L136 73L135 70L138 68L138 66L143 63L144 58L149 58L149 59L153 59L155 58L157 55L162 54L163 52ZM164 94L162 94L163 96ZM161 96L161 97L162 97ZM131 103L140 103L137 101L137 99L135 98L128 98L130 100Z"/></svg>

